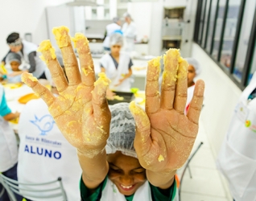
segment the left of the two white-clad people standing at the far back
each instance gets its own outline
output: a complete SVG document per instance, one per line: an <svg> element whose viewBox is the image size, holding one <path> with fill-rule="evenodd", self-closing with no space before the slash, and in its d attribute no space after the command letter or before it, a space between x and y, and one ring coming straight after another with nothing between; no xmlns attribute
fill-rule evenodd
<svg viewBox="0 0 256 201"><path fill-rule="evenodd" d="M115 31L120 31L120 30L121 30L121 21L120 21L120 18L118 17L113 18L113 23L105 27L105 39L103 41L103 47L105 51L110 51L110 44L109 44L110 35L112 35Z"/></svg>

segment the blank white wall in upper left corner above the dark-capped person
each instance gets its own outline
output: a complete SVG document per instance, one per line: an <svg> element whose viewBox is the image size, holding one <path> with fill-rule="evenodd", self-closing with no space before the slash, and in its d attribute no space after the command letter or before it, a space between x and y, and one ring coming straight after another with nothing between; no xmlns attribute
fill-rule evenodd
<svg viewBox="0 0 256 201"><path fill-rule="evenodd" d="M47 39L45 7L57 6L71 0L8 0L0 2L0 59L9 51L6 38L11 32L32 34L32 42Z"/></svg>

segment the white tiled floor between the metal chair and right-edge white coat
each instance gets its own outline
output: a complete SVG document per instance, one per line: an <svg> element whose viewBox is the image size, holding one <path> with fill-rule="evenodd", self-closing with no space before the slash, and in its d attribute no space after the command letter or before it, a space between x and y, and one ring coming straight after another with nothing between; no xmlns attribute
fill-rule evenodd
<svg viewBox="0 0 256 201"><path fill-rule="evenodd" d="M200 129L192 153L200 145L200 142L204 144L200 146L189 163L192 178L190 178L188 168L185 171L180 188L180 201L231 201L233 199L228 190L225 190L223 178L217 170L204 130L204 124L200 121ZM183 171L184 166L177 171L179 178Z"/></svg>

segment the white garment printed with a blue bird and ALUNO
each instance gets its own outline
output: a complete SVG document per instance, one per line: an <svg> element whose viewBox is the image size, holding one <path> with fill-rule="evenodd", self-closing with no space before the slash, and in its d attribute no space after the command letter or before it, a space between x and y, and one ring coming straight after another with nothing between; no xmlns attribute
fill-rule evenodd
<svg viewBox="0 0 256 201"><path fill-rule="evenodd" d="M23 109L19 137L19 182L47 183L61 177L68 200L80 201L82 172L76 149L60 133L42 99L29 101Z"/></svg>

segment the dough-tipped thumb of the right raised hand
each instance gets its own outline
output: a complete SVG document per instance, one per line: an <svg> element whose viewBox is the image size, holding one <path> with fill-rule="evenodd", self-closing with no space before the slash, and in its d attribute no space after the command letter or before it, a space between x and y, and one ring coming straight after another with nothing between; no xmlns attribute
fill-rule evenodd
<svg viewBox="0 0 256 201"><path fill-rule="evenodd" d="M151 148L151 122L147 113L132 101L129 105L136 125L134 148L139 156L144 156Z"/></svg>

